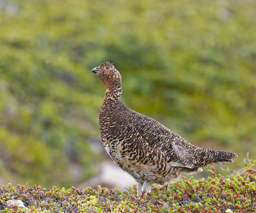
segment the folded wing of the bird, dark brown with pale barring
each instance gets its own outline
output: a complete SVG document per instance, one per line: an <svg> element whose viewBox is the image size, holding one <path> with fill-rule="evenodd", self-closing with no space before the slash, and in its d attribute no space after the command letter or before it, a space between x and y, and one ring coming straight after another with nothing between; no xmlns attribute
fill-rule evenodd
<svg viewBox="0 0 256 213"><path fill-rule="evenodd" d="M132 111L132 126L143 138L144 146L160 149L174 161L173 166L195 168L198 159L195 150L198 148L169 130L163 124L148 116Z"/></svg>

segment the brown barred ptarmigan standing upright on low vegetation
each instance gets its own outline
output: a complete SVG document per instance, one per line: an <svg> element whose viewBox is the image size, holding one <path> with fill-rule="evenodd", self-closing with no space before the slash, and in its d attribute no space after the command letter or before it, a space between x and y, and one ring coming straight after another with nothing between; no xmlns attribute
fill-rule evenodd
<svg viewBox="0 0 256 213"><path fill-rule="evenodd" d="M171 183L182 172L200 172L209 163L237 158L231 152L194 146L156 120L129 109L122 102L121 75L113 64L105 62L91 72L106 85L99 114L102 143L113 161L135 178L138 196L144 189L150 192L152 183Z"/></svg>

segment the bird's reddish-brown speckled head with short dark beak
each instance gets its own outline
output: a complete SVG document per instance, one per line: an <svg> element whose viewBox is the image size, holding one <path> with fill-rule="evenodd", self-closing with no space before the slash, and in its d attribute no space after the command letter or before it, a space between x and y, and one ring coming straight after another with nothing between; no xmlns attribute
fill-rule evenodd
<svg viewBox="0 0 256 213"><path fill-rule="evenodd" d="M121 88L121 75L109 61L93 68L91 72L96 73L107 88Z"/></svg>

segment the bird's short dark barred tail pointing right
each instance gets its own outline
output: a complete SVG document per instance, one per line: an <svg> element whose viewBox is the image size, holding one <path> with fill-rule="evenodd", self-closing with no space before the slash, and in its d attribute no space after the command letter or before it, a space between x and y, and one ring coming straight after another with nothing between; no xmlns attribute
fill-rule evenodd
<svg viewBox="0 0 256 213"><path fill-rule="evenodd" d="M222 150L213 150L213 149L203 149L206 153L207 157L204 158L204 162L202 162L202 167L208 165L209 163L217 163L217 162L233 162L238 156L232 152L226 152Z"/></svg>

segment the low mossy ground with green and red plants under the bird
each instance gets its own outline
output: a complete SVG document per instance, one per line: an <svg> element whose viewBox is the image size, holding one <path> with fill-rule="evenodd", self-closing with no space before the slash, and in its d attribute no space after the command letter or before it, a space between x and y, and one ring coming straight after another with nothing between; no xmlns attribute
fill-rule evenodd
<svg viewBox="0 0 256 213"><path fill-rule="evenodd" d="M250 160L237 174L224 178L209 170L206 180L182 178L169 187L152 186L151 193L136 196L136 186L126 192L98 190L43 188L34 185L13 187L11 183L0 189L0 213L4 212L239 212L256 210L256 161ZM234 174L234 172L233 172ZM10 199L22 200L26 208L6 206Z"/></svg>

